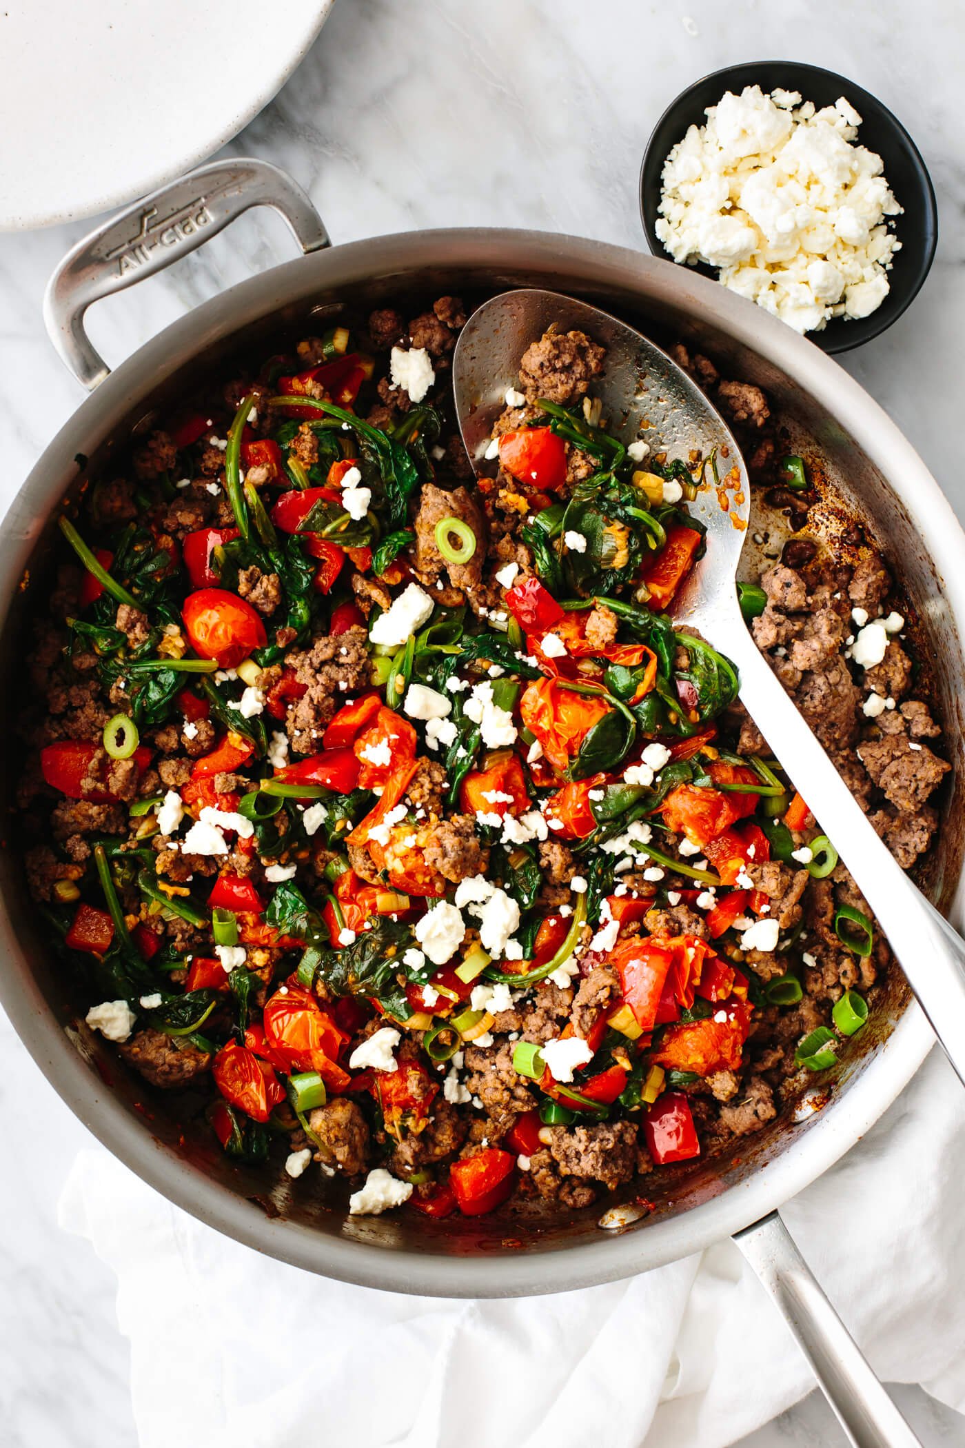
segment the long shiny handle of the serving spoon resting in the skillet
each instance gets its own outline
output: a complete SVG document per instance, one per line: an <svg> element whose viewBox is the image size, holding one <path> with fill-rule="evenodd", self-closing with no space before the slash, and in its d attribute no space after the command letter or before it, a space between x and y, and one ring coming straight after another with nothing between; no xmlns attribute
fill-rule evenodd
<svg viewBox="0 0 965 1448"><path fill-rule="evenodd" d="M720 627L718 617L700 620L699 626L738 666L745 708L768 743L780 746L781 763L794 788L877 915L919 1005L965 1085L965 940L878 838L739 615L736 624L726 620Z"/></svg>

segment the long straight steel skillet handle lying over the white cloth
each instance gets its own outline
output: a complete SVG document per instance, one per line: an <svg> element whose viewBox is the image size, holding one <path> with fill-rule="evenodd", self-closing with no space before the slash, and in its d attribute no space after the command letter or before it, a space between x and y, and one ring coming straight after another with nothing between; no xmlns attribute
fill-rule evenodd
<svg viewBox="0 0 965 1448"><path fill-rule="evenodd" d="M735 1232L761 1283L781 1309L855 1448L922 1448L822 1292L780 1215Z"/></svg>

